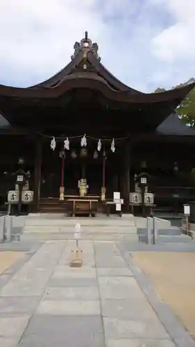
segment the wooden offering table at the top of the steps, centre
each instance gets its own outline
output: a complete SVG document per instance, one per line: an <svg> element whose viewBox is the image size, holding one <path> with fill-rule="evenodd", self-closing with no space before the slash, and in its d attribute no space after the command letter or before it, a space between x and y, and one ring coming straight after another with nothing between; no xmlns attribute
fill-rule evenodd
<svg viewBox="0 0 195 347"><path fill-rule="evenodd" d="M88 215L96 217L99 204L99 196L66 196L67 214L75 217L76 215Z"/></svg>

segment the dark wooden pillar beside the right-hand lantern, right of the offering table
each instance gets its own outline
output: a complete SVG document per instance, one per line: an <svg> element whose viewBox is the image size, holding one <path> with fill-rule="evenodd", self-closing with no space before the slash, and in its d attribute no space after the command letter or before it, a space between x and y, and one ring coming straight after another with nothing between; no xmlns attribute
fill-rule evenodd
<svg viewBox="0 0 195 347"><path fill-rule="evenodd" d="M129 194L130 194L130 143L124 144L124 175L123 175L123 197L124 212L129 213Z"/></svg>

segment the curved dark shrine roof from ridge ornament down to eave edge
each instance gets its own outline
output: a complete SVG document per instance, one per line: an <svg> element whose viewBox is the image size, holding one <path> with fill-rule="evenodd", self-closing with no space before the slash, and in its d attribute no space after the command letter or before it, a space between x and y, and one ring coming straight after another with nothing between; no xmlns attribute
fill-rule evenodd
<svg viewBox="0 0 195 347"><path fill-rule="evenodd" d="M146 94L128 87L101 64L98 45L85 38L74 44L71 62L48 80L28 88L0 85L1 96L20 99L55 98L76 87L99 90L108 99L121 103L162 103L176 100L180 103L195 83L181 85L176 89ZM177 104L178 105L178 104Z"/></svg>

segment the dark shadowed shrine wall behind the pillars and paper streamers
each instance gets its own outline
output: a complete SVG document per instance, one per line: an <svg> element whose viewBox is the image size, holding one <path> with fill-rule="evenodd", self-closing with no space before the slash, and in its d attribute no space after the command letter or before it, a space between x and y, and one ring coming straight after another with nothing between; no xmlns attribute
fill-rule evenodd
<svg viewBox="0 0 195 347"><path fill-rule="evenodd" d="M59 158L62 144L58 144L56 151L50 149L50 139L44 139L42 147L42 175L40 196L59 196L61 182L61 159ZM72 159L71 150L75 149L78 157ZM93 158L96 143L87 145L88 155L85 160L86 177L90 185L91 194L99 194L102 185L102 156ZM123 192L124 187L124 144L116 144L116 152L110 151L110 144L106 148L106 187L108 196L113 190ZM82 160L79 156L80 143L71 144L71 149L65 159L65 192L78 192L77 183L81 178ZM24 158L24 169L31 172L30 185L34 184L35 138L28 135L0 136L0 196L1 203L6 200L9 189L13 189L15 182L11 174L17 170L18 158ZM158 204L168 196L180 194L185 200L195 196L195 180L192 169L195 167L195 146L193 142L139 141L130 144L130 190L133 191L134 175L147 171L151 175L150 190L156 194ZM142 167L142 162L146 167ZM174 163L178 163L178 172L174 171ZM189 187L191 187L189 189ZM167 200L169 203L169 199Z"/></svg>

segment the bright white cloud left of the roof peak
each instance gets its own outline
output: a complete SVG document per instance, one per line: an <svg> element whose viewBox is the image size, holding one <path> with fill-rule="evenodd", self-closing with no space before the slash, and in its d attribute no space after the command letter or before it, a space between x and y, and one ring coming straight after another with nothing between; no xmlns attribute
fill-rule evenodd
<svg viewBox="0 0 195 347"><path fill-rule="evenodd" d="M33 74L49 76L69 62L74 42L87 28L97 40L103 35L93 6L93 0L1 0L1 62L12 72L28 71L28 80Z"/></svg>

